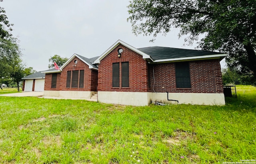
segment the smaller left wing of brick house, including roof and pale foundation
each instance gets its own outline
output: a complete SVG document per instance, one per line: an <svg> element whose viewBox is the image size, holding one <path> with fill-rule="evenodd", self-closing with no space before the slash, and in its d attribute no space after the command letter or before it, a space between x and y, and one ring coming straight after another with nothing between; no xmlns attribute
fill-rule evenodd
<svg viewBox="0 0 256 164"><path fill-rule="evenodd" d="M44 96L90 99L97 91L98 67L92 64L96 58L74 54L60 70L42 71L45 73Z"/></svg>

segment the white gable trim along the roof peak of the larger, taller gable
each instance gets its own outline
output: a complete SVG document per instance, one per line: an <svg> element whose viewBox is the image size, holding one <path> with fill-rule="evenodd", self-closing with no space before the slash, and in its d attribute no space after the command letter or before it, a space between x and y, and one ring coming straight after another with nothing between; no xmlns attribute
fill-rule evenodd
<svg viewBox="0 0 256 164"><path fill-rule="evenodd" d="M116 43L114 43L111 47L109 47L104 53L102 53L102 55L100 55L99 57L97 57L94 61L94 63L96 64L99 64L100 61L106 56L108 55L108 53L110 53L113 49L115 49L119 44L122 44L124 45L125 47L135 51L136 53L142 55L143 59L150 59L150 55L140 51L139 49L136 49L134 47L132 47L131 45L125 43L124 41L121 41L121 40L118 40L116 41Z"/></svg>

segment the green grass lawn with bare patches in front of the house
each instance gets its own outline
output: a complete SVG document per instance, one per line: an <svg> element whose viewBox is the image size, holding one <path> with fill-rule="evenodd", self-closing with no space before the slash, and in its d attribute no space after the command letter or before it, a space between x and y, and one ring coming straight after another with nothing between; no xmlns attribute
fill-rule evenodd
<svg viewBox="0 0 256 164"><path fill-rule="evenodd" d="M256 87L225 106L0 97L0 163L256 163Z"/></svg>

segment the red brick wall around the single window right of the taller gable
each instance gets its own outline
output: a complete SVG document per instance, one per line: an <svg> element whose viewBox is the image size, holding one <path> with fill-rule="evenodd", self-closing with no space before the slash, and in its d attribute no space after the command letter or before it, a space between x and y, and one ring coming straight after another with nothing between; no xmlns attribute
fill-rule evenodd
<svg viewBox="0 0 256 164"><path fill-rule="evenodd" d="M220 61L218 59L190 61L191 88L176 88L175 63L152 64L150 88L153 92L223 93ZM153 78L154 67L154 78Z"/></svg>

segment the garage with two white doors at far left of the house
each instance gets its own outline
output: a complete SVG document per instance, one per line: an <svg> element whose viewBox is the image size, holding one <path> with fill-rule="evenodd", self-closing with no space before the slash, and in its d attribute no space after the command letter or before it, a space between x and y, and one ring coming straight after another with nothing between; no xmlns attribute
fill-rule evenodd
<svg viewBox="0 0 256 164"><path fill-rule="evenodd" d="M22 91L25 91L25 92L29 92L29 91L43 92L44 91L45 73L42 73L42 71L23 77L22 79L24 80Z"/></svg>

